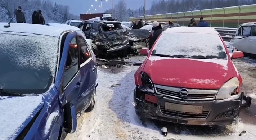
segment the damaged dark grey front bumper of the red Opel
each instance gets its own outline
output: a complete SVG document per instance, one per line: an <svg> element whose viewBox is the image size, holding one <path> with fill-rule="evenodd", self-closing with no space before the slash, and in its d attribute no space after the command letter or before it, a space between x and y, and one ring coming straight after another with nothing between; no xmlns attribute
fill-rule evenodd
<svg viewBox="0 0 256 140"><path fill-rule="evenodd" d="M237 98L224 100L210 100L210 101L184 101L176 100L162 95L156 95L156 103L146 100L141 100L136 94L142 93L140 89L134 90L134 108L136 114L145 118L157 119L161 121L181 123L187 125L228 125L231 124L237 116L239 116L239 109L243 95L240 94ZM152 95L152 93L151 93ZM153 95L153 96L154 96ZM141 96L141 95L140 95ZM182 104L182 105L202 105L203 113L186 113L176 112L165 109L165 102ZM230 115L229 113L232 112Z"/></svg>

